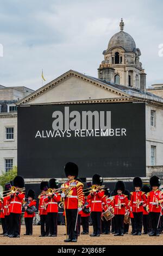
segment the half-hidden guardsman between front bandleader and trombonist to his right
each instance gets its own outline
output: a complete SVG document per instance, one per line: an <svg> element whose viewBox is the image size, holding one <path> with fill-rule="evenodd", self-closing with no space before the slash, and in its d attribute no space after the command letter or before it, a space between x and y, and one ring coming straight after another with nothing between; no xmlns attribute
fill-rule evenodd
<svg viewBox="0 0 163 256"><path fill-rule="evenodd" d="M84 202L83 202L82 214L81 214L83 231L81 232L81 235L89 234L89 218L90 218L91 205L90 205L90 200L87 199L88 195L89 195L89 191L84 192Z"/></svg>

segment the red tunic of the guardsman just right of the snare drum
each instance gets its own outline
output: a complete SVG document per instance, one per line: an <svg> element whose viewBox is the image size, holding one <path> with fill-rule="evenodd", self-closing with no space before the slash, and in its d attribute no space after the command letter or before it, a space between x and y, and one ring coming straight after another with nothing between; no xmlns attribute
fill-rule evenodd
<svg viewBox="0 0 163 256"><path fill-rule="evenodd" d="M112 206L114 207L115 215L124 215L127 205L128 197L125 194L117 194L116 196L114 196Z"/></svg>

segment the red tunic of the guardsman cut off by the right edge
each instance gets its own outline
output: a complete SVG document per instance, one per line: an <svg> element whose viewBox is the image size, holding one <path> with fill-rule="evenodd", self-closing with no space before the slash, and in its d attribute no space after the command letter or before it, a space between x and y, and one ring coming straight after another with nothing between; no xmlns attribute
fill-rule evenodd
<svg viewBox="0 0 163 256"><path fill-rule="evenodd" d="M162 199L163 192L160 190L151 191L147 193L147 208L149 212L161 212L159 201Z"/></svg>

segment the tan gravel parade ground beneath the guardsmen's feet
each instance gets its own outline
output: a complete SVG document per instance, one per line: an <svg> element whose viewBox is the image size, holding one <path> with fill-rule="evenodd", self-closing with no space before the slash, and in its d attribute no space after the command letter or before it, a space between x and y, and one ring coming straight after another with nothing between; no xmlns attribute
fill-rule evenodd
<svg viewBox="0 0 163 256"><path fill-rule="evenodd" d="M90 227L90 233L92 227ZM0 233L2 227L0 226ZM101 235L100 237L90 237L89 235L80 235L77 243L65 243L66 239L65 227L58 226L57 237L39 237L40 226L33 227L33 236L23 236L25 233L25 226L21 227L20 238L9 238L0 236L0 245L163 245L163 235L159 237L149 237L148 235L132 236L124 235Z"/></svg>

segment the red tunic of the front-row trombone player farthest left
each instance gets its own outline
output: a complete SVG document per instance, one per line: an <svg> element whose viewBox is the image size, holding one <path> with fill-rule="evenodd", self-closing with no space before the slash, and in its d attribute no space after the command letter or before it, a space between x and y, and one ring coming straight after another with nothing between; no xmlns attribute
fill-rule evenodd
<svg viewBox="0 0 163 256"><path fill-rule="evenodd" d="M18 195L14 193L14 197L7 197L7 200L9 200L10 205L9 205L9 212L12 214L21 214L22 213L22 202L24 200L25 193L20 192Z"/></svg>

